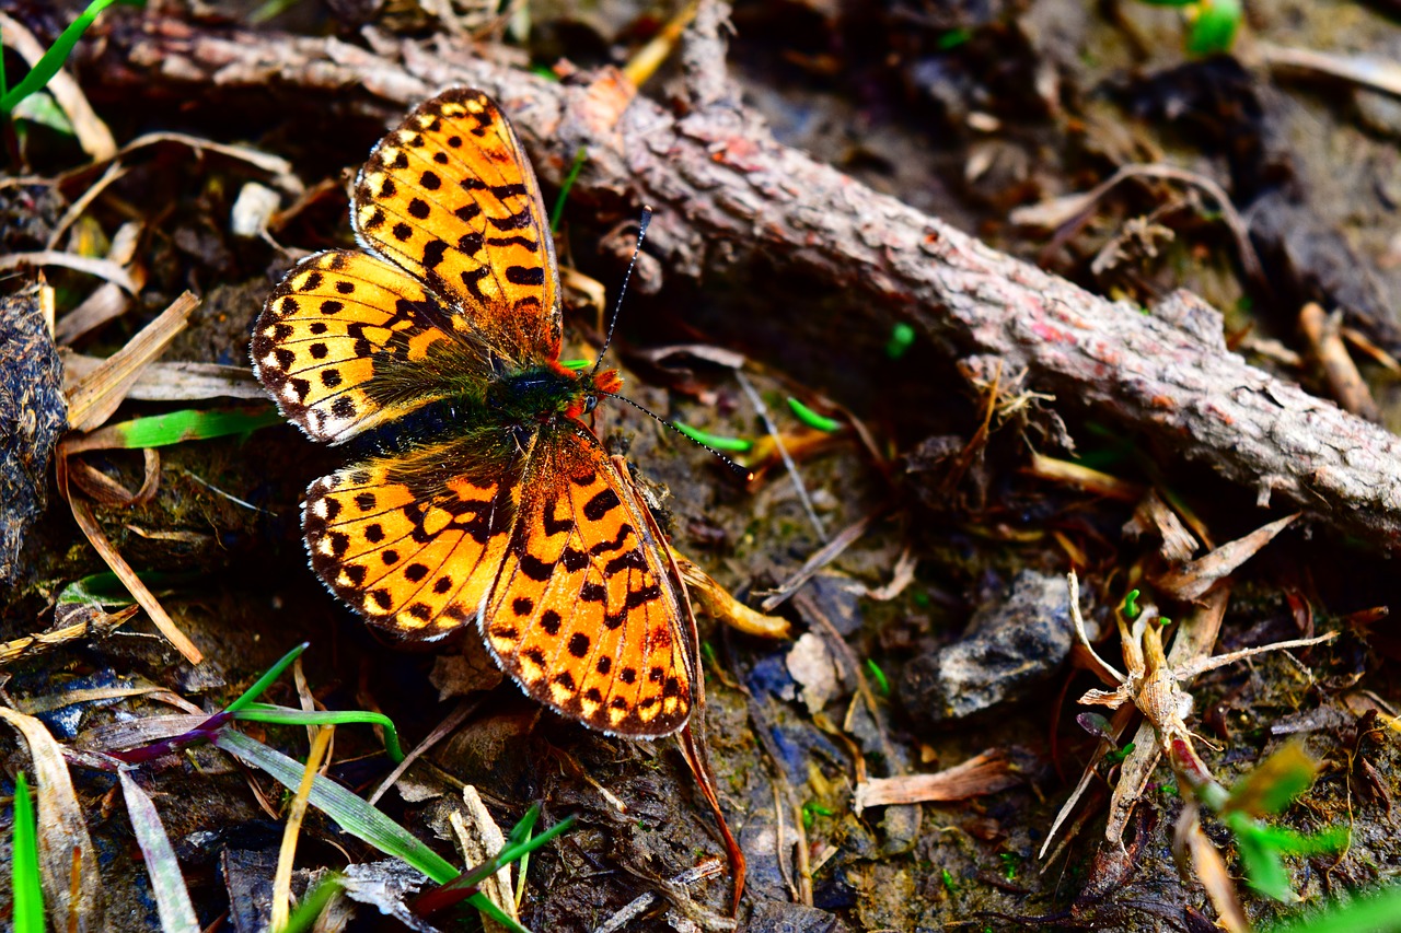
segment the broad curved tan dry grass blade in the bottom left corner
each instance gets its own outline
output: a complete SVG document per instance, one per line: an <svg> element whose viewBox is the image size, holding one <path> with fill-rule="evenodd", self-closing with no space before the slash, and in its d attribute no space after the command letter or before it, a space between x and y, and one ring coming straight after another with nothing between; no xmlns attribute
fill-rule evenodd
<svg viewBox="0 0 1401 933"><path fill-rule="evenodd" d="M62 930L76 919L78 933L97 933L104 929L102 877L83 806L73 793L73 779L63 761L63 747L32 716L0 706L0 719L24 735L34 761L39 803L39 870L49 920L53 929Z"/></svg>

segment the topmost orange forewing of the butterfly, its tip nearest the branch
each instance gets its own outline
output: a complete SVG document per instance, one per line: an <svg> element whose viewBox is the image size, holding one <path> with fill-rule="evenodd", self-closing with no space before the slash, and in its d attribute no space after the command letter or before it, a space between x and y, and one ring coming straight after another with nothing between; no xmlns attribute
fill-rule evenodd
<svg viewBox="0 0 1401 933"><path fill-rule="evenodd" d="M481 91L426 101L360 171L356 235L448 298L453 325L516 361L559 357L555 241L535 172Z"/></svg>

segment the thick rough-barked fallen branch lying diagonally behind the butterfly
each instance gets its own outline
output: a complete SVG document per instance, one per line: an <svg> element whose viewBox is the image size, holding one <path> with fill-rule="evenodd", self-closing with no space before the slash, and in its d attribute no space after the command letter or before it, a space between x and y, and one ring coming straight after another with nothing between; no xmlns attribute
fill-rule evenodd
<svg viewBox="0 0 1401 933"><path fill-rule="evenodd" d="M366 46L118 21L90 81L196 95L248 88L335 94L385 116L469 84L514 118L546 179L580 146L574 198L650 203L649 248L674 275L700 276L754 254L922 328L974 371L1000 360L1026 385L1132 423L1226 478L1278 493L1313 517L1393 548L1401 541L1401 441L1247 366L1220 315L1178 293L1152 315L1091 294L780 146L724 77L724 8L702 4L682 64L689 99L667 108L621 78L549 83L450 36L366 34ZM621 113L619 113L621 112ZM979 366L981 364L981 366Z"/></svg>

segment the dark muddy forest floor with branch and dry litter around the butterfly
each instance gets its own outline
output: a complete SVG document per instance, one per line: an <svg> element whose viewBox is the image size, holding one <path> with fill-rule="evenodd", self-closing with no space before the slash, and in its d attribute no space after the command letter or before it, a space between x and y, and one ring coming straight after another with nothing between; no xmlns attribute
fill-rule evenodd
<svg viewBox="0 0 1401 933"><path fill-rule="evenodd" d="M254 324L298 259L354 245L371 146L460 84L514 120L546 210L587 150L556 237L563 357L601 349L649 205L608 366L755 474L595 413L672 548L792 626L699 614L741 929L1250 929L1394 883L1394 3L1247 4L1210 56L1182 10L1133 0L478 6L113 6L73 97L6 126L0 749L6 797L39 779L41 839L67 761L84 827L63 839L91 842L41 842L55 927L76 898L102 904L88 929L160 929L106 754L192 728L303 642L263 699L432 740L377 806L450 862L467 786L504 829L537 801L542 828L577 817L530 859L524 926L733 927L677 742L548 712L475 626L401 650L307 566L298 502L347 455L273 416ZM81 4L0 10L14 84L14 27L45 48ZM153 322L171 331L134 385L83 381ZM84 447L192 409L245 430ZM1111 668L1129 688L1079 705ZM308 755L304 726L238 728ZM394 768L357 724L328 762L361 796ZM200 744L127 773L199 926L266 929L296 782ZM381 859L312 806L293 890ZM91 870L70 884L70 862ZM321 929L389 923L349 913Z"/></svg>

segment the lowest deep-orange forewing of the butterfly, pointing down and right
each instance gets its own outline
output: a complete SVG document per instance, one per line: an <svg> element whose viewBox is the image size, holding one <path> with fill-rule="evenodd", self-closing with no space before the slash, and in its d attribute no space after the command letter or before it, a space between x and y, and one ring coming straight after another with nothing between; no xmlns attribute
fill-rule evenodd
<svg viewBox="0 0 1401 933"><path fill-rule="evenodd" d="M698 671L685 597L644 509L583 426L544 434L481 623L535 699L657 738L685 724Z"/></svg>

